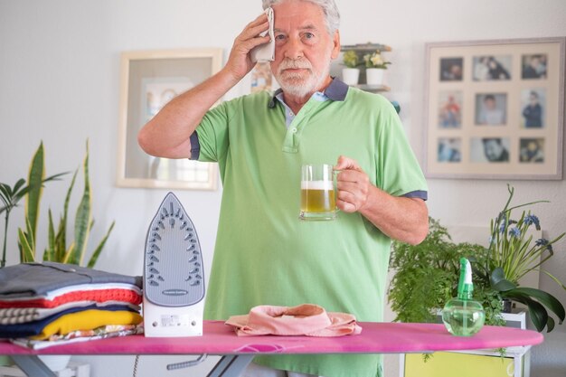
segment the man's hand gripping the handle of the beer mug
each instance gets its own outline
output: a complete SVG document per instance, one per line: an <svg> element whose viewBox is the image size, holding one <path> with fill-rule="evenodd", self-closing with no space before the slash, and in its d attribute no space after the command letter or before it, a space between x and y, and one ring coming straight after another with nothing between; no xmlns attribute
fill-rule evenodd
<svg viewBox="0 0 566 377"><path fill-rule="evenodd" d="M340 156L335 165L337 176L336 206L343 212L358 212L367 203L372 184L358 163L349 157Z"/></svg>

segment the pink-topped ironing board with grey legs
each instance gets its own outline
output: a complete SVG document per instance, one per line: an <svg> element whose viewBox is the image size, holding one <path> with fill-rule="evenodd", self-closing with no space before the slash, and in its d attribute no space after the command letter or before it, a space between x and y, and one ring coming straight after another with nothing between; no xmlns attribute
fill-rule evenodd
<svg viewBox="0 0 566 377"><path fill-rule="evenodd" d="M532 330L484 326L471 337L449 335L444 325L361 322L360 335L340 337L237 336L222 321L204 321L203 336L162 338L133 335L31 350L0 343L28 376L55 377L38 354L209 354L221 355L209 377L236 377L259 353L433 353L541 344Z"/></svg>

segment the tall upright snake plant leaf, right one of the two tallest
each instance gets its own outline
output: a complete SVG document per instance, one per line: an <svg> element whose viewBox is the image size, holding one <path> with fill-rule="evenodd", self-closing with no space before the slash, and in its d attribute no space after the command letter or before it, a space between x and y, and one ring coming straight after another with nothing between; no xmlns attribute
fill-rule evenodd
<svg viewBox="0 0 566 377"><path fill-rule="evenodd" d="M84 174L84 190L80 199L77 214L75 215L75 245L76 250L73 253L70 263L82 264L84 255L87 250L87 241L90 234L90 220L91 220L91 189L89 180L89 143L87 142L87 154L84 157L82 165Z"/></svg>

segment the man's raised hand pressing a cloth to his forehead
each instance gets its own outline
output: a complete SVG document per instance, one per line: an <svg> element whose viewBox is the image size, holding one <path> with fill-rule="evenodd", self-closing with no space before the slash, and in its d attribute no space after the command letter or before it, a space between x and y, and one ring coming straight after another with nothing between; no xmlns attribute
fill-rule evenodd
<svg viewBox="0 0 566 377"><path fill-rule="evenodd" d="M263 37L259 35L259 33L266 32L268 29L267 14L259 14L258 18L247 24L240 35L236 37L224 67L231 73L234 80L243 79L256 65L250 59L250 51L260 44L269 42L269 34Z"/></svg>

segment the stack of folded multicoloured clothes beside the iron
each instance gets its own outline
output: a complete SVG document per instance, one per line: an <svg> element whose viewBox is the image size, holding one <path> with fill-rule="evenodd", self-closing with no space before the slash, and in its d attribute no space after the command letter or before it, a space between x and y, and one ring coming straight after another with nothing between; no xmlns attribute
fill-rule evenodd
<svg viewBox="0 0 566 377"><path fill-rule="evenodd" d="M41 348L139 334L140 277L75 265L23 263L0 269L0 338Z"/></svg>

